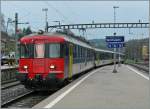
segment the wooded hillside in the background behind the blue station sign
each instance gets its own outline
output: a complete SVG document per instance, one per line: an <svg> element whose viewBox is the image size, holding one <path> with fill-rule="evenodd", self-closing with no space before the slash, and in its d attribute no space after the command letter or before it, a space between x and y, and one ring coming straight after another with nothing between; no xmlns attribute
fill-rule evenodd
<svg viewBox="0 0 150 109"><path fill-rule="evenodd" d="M113 49L107 48L105 39L91 39L89 40L89 42L97 48L113 50ZM143 60L143 56L142 56L143 46L149 47L148 38L129 40L125 42L125 48L122 48L121 51L125 53L126 59L140 61L140 60Z"/></svg>

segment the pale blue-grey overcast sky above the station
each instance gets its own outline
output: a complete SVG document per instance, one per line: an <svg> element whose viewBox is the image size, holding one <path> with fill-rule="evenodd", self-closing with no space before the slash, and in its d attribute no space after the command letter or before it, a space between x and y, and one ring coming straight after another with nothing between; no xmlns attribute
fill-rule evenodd
<svg viewBox="0 0 150 109"><path fill-rule="evenodd" d="M148 1L2 1L2 13L5 21L14 19L15 12L19 14L19 22L29 22L29 25L19 25L19 28L30 26L32 30L44 29L45 13L42 8L48 8L48 22L50 25L70 23L109 23L113 22L113 6L116 9L117 22L148 22ZM114 29L90 29L86 32L88 39L104 38L112 35ZM117 35L124 35L126 39L148 36L148 29L117 29ZM74 31L79 34L78 31Z"/></svg>

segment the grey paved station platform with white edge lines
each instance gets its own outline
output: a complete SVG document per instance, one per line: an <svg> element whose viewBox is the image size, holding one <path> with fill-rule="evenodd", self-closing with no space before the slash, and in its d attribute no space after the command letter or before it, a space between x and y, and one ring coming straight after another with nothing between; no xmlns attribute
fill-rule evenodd
<svg viewBox="0 0 150 109"><path fill-rule="evenodd" d="M148 75L128 65L98 68L75 80L33 108L150 109Z"/></svg>

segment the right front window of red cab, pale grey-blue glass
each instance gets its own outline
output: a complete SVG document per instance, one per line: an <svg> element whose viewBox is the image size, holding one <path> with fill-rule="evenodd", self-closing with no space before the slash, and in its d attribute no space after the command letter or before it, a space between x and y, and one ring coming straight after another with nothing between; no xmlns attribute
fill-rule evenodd
<svg viewBox="0 0 150 109"><path fill-rule="evenodd" d="M49 44L49 57L50 58L58 58L61 56L60 54L60 44Z"/></svg>

